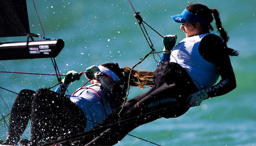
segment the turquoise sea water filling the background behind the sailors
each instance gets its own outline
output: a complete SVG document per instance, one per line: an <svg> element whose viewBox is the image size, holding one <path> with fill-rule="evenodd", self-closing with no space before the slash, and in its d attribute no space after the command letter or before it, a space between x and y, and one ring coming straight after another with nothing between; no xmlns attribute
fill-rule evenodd
<svg viewBox="0 0 256 146"><path fill-rule="evenodd" d="M174 119L158 119L130 132L131 135L161 146L255 146L256 145L256 0L197 0L220 11L221 22L228 34L228 46L239 51L232 57L237 88L220 97L202 102ZM28 0L31 33L42 34L33 3ZM185 35L180 24L170 16L180 14L187 0L131 0L144 21L161 35ZM189 1L190 3L190 1ZM132 15L128 0L35 0L39 17L48 37L61 38L65 47L56 57L61 74L69 70L85 71L91 65L107 62L121 67L132 66L150 52L149 45ZM215 26L213 24L213 26ZM146 27L156 51L163 50L162 37ZM216 31L216 29L215 29ZM23 41L26 38L0 38L0 41ZM157 56L156 60L159 60ZM154 70L156 61L149 55L136 69ZM52 61L25 59L0 61L1 71L55 73ZM0 73L0 87L18 93L22 89L52 87L55 77ZM82 77L69 87L69 92L83 85ZM148 90L149 88L145 89ZM131 88L128 98L145 90ZM9 113L16 94L0 89L0 112ZM7 108L8 107L8 108ZM7 121L8 122L8 121ZM29 138L29 126L23 138ZM0 139L5 140L7 127L0 121ZM126 136L116 146L153 146L132 136Z"/></svg>

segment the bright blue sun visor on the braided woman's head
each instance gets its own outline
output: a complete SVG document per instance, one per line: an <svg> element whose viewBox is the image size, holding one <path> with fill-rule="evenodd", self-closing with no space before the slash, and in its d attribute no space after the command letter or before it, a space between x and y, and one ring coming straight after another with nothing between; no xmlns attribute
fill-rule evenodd
<svg viewBox="0 0 256 146"><path fill-rule="evenodd" d="M208 20L205 20L205 19L191 13L187 9L183 10L183 12L181 14L171 16L171 17L173 18L174 21L176 21L178 23L196 21L196 22L200 22L204 26L209 26L210 25L210 22Z"/></svg>

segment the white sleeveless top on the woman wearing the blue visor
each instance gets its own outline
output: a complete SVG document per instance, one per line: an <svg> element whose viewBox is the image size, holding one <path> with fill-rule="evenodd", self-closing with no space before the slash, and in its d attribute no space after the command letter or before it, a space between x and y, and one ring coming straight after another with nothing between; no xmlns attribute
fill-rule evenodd
<svg viewBox="0 0 256 146"><path fill-rule="evenodd" d="M161 58L162 61L170 59L170 62L185 68L200 90L213 86L219 77L218 68L206 61L198 50L202 38L206 35L208 34L184 38L173 48L171 54L163 53Z"/></svg>

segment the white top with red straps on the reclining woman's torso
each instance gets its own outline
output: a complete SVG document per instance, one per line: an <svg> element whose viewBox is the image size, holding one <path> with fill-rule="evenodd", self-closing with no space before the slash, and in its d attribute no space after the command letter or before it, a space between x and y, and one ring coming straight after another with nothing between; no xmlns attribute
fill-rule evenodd
<svg viewBox="0 0 256 146"><path fill-rule="evenodd" d="M69 99L80 107L86 116L86 131L97 126L108 114L113 112L109 95L100 86L100 83L88 85L81 89L79 88L74 92L75 94L69 96Z"/></svg>

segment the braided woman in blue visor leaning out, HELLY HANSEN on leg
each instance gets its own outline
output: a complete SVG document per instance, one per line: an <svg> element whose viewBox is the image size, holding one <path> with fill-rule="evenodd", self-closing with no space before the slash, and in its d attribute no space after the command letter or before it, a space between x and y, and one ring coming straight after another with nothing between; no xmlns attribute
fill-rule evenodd
<svg viewBox="0 0 256 146"><path fill-rule="evenodd" d="M220 37L209 31L213 32L212 14ZM176 35L164 37L164 53L153 73L155 86L108 115L97 126L104 132L86 137L92 139L86 146L114 145L142 124L178 117L204 99L224 95L236 87L229 56L238 53L227 47L228 35L218 10L189 4L182 14L172 18L181 23L186 38L175 46ZM221 81L214 85L219 76Z"/></svg>

